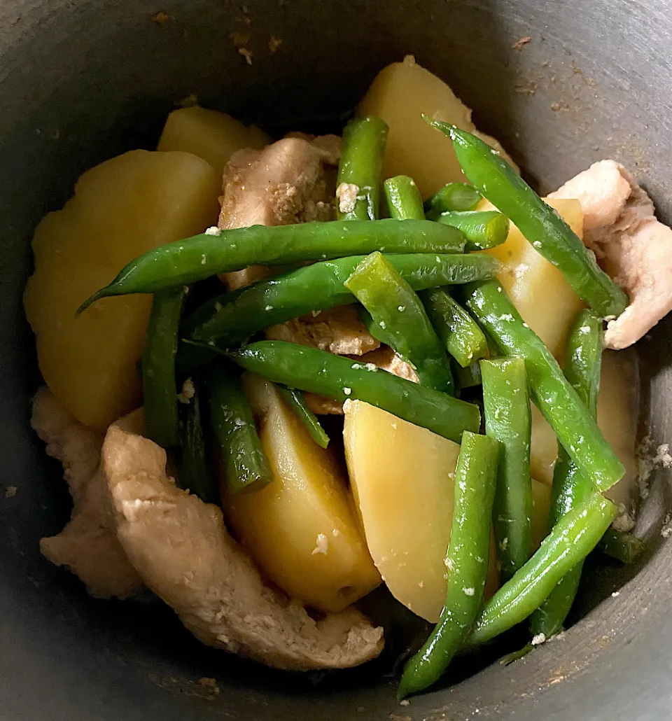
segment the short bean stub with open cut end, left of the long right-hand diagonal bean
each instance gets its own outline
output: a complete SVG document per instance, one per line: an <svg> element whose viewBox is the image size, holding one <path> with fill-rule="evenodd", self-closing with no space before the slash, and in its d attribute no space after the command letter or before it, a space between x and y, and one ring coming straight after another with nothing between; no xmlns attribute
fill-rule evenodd
<svg viewBox="0 0 672 721"><path fill-rule="evenodd" d="M420 300L446 350L462 368L487 357L487 340L482 330L445 288L423 291Z"/></svg>

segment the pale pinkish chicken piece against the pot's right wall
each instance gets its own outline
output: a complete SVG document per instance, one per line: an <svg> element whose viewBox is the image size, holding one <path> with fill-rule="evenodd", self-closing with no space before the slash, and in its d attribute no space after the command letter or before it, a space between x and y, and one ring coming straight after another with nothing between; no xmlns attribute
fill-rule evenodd
<svg viewBox="0 0 672 721"><path fill-rule="evenodd" d="M627 348L672 310L672 229L655 218L649 196L613 160L594 163L549 197L580 200L583 241L630 301L607 324L604 342Z"/></svg>

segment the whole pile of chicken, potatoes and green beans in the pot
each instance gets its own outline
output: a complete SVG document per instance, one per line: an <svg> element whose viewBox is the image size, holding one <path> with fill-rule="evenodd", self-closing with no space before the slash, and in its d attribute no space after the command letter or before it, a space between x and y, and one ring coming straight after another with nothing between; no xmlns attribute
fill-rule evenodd
<svg viewBox="0 0 672 721"><path fill-rule="evenodd" d="M74 501L48 559L295 671L376 658L384 584L436 624L403 697L641 552L621 350L672 309L672 231L616 160L539 198L470 116L407 57L342 137L189 107L81 176L25 293Z"/></svg>

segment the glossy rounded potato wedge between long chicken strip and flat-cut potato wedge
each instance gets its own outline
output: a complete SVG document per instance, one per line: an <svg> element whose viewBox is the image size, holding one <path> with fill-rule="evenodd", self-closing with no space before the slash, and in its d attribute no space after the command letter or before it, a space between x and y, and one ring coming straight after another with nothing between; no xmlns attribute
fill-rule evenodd
<svg viewBox="0 0 672 721"><path fill-rule="evenodd" d="M229 518L260 568L288 593L341 611L381 582L359 530L346 480L269 381L244 374L273 482L229 497Z"/></svg>

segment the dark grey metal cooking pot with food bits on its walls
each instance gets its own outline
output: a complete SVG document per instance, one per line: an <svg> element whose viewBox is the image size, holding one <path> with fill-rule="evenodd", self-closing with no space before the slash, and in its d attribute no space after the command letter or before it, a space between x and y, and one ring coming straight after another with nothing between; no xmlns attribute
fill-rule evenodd
<svg viewBox="0 0 672 721"><path fill-rule="evenodd" d="M376 71L415 53L540 190L613 157L672 221L669 0L245 2L1 6L0 454L3 485L16 494L0 495L0 717L670 719L672 547L658 534L665 479L640 522L652 550L618 595L620 571L589 565L578 606L587 615L564 637L461 683L467 665L456 663L446 688L404 707L392 681L366 669L297 677L208 650L161 604L94 601L40 557L37 541L61 529L68 498L28 425L39 381L21 306L30 236L84 169L154 147L188 94L275 135L337 129ZM249 36L251 66L234 32ZM271 36L282 40L275 53ZM670 329L663 323L640 344L642 420L654 443L672 438Z"/></svg>

